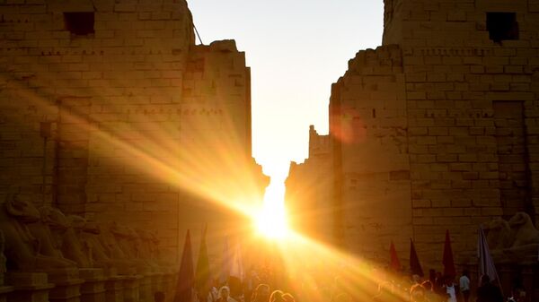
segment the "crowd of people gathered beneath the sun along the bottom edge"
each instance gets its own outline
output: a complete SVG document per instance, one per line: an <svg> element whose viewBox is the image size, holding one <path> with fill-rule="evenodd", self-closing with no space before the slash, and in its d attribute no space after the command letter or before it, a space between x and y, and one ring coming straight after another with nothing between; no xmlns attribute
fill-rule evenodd
<svg viewBox="0 0 539 302"><path fill-rule="evenodd" d="M315 276L315 277L313 277ZM370 271L362 276L338 276L327 273L284 278L252 270L243 280L230 277L214 280L211 289L198 296L198 302L521 302L517 289L504 298L499 286L488 275L472 289L469 272L459 278L442 276L431 270L429 278L418 275L396 277L396 274ZM276 277L277 280L276 281ZM324 278L325 277L325 278Z"/></svg>

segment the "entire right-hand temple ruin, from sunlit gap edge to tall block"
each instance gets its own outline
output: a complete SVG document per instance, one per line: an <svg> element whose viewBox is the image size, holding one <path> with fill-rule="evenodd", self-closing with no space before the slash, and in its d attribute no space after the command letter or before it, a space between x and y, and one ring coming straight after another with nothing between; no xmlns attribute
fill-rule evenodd
<svg viewBox="0 0 539 302"><path fill-rule="evenodd" d="M309 159L290 168L292 216L317 225L297 224L378 263L391 240L406 259L413 238L435 269L446 229L458 254L494 218L537 225L538 34L537 1L385 0L383 45L349 60L329 136L312 128Z"/></svg>

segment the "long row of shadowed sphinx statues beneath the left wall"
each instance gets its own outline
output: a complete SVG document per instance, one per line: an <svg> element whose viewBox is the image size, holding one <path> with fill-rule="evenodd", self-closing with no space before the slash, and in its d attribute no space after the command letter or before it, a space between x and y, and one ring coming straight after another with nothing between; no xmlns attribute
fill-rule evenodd
<svg viewBox="0 0 539 302"><path fill-rule="evenodd" d="M0 275L72 268L108 275L163 272L171 266L160 260L158 246L155 232L145 229L38 209L13 195L0 203Z"/></svg>

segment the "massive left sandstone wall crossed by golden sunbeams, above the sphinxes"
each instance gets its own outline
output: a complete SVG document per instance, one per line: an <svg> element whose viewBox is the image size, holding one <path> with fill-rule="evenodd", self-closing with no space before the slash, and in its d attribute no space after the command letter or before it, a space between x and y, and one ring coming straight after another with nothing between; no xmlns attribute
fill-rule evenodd
<svg viewBox="0 0 539 302"><path fill-rule="evenodd" d="M157 229L174 256L224 229L227 169L260 198L244 54L195 46L185 1L0 2L0 38L0 198Z"/></svg>

